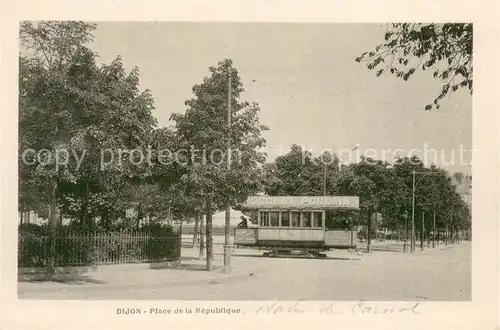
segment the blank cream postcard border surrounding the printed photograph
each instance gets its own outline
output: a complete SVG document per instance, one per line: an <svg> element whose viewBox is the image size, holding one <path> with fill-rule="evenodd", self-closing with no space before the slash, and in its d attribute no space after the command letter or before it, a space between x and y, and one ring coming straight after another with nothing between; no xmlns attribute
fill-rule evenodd
<svg viewBox="0 0 500 330"><path fill-rule="evenodd" d="M2 316L5 329L68 328L478 328L498 326L498 12L486 1L12 1L2 5ZM474 23L473 286L471 303L422 303L420 314L254 315L259 302L231 302L244 316L117 316L117 307L214 306L215 302L25 301L17 299L17 49L18 21L391 22ZM303 303L311 310L324 303ZM339 302L345 309L352 302ZM406 302L403 304L407 304ZM384 304L387 305L387 304ZM401 306L400 302L391 305Z"/></svg>

